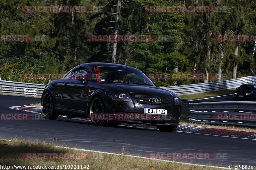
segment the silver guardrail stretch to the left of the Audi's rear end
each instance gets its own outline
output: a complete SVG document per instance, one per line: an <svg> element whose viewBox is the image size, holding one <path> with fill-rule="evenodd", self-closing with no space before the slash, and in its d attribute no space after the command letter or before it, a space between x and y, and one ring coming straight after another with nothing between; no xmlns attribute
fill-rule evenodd
<svg viewBox="0 0 256 170"><path fill-rule="evenodd" d="M17 96L29 96L41 98L45 85L22 83L13 81L0 81L0 93Z"/></svg>

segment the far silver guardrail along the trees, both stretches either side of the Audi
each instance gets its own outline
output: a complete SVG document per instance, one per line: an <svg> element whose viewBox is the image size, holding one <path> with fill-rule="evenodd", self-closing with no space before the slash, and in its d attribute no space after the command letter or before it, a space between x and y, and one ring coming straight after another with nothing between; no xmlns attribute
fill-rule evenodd
<svg viewBox="0 0 256 170"><path fill-rule="evenodd" d="M256 84L256 76L248 76L243 78L236 78L232 80L211 82L211 83L199 83L192 85L179 85L162 87L169 91L172 91L178 95L180 94L195 94L202 92L212 92L217 90L225 90L239 87L242 84ZM0 81L0 93L14 94L14 95L31 95L31 97L41 97L44 91L45 85L22 83L12 81Z"/></svg>

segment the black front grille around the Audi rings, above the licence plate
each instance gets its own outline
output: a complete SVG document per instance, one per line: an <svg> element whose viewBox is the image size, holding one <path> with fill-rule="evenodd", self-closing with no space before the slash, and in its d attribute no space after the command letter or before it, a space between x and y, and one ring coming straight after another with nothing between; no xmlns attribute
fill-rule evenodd
<svg viewBox="0 0 256 170"><path fill-rule="evenodd" d="M135 95L135 100L141 105L172 106L171 98L156 97L151 95ZM161 103L150 102L149 99L161 99Z"/></svg>

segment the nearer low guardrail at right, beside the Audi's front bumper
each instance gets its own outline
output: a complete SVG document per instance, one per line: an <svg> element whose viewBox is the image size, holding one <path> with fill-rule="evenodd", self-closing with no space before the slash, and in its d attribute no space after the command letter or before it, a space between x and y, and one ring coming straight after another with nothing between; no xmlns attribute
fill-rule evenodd
<svg viewBox="0 0 256 170"><path fill-rule="evenodd" d="M222 101L189 103L190 122L256 127L256 102Z"/></svg>

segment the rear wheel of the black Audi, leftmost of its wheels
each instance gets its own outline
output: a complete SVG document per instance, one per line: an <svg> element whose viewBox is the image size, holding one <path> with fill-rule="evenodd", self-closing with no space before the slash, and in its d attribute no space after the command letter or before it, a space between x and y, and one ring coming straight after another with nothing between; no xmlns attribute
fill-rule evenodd
<svg viewBox="0 0 256 170"><path fill-rule="evenodd" d="M44 119L55 120L58 118L58 114L53 110L53 98L50 92L45 92L41 100L41 114Z"/></svg>

